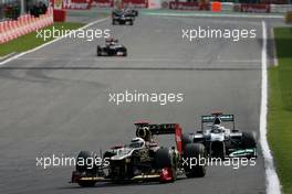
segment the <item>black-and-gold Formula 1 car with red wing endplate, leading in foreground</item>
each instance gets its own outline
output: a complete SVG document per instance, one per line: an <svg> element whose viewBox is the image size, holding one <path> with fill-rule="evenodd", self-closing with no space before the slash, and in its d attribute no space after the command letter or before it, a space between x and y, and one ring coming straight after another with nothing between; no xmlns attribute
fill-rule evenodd
<svg viewBox="0 0 292 194"><path fill-rule="evenodd" d="M204 144L188 143L181 147L181 128L178 123L153 125L138 122L136 137L129 143L113 147L101 153L102 163L88 166L87 159L96 159L95 154L81 151L77 155L75 171L71 183L81 186L93 186L96 182L123 183L128 181L174 182L177 175L185 173L187 177L202 177L206 165L184 165L182 157L199 160L206 155ZM176 148L158 146L154 136L175 134ZM186 160L185 160L186 161Z"/></svg>

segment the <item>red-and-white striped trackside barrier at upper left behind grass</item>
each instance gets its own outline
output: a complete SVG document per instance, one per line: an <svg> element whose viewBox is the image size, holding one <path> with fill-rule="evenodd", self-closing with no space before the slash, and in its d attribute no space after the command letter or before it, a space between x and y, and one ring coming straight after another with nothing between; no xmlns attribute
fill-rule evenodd
<svg viewBox="0 0 292 194"><path fill-rule="evenodd" d="M53 9L48 9L48 12L40 18L25 14L17 21L0 22L0 44L51 24L53 24Z"/></svg>

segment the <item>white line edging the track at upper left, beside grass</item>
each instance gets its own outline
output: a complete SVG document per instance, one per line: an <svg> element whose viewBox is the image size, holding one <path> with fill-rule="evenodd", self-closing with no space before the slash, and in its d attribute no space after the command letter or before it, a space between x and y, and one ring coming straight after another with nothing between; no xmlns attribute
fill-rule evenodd
<svg viewBox="0 0 292 194"><path fill-rule="evenodd" d="M101 22L103 22L103 21L105 21L105 20L107 20L107 19L108 19L108 18L104 18L104 19L96 20L96 21L94 21L94 22L91 22L91 23L88 23L88 24L86 24L86 25L80 28L79 30L87 29L88 26L92 26L92 25L94 25L94 24L96 24L96 23L101 23ZM76 30L77 30L77 29L76 29ZM70 34L72 34L72 33L74 33L74 32L73 32L73 31L70 32ZM67 34L67 35L69 35L69 34ZM20 56L23 56L23 55L25 55L25 54L32 53L32 52L38 51L38 50L40 50L40 48L42 48L42 47L44 47L44 46L48 46L48 45L50 45L50 44L52 44L52 43L54 43L54 42L58 42L58 41L60 41L60 40L62 40L62 39L64 39L64 37L66 37L66 35L64 35L64 36L60 36L60 37L58 37L58 39L55 39L55 40L53 40L53 41L50 41L50 42L48 42L48 43L44 43L44 44L42 44L42 45L40 45L40 46L38 46L38 47L34 47L34 48L32 48L32 50L29 50L29 51L25 51L25 52L20 53L20 54L18 54L18 55L14 55L14 56L12 56L12 57L10 57L10 58L8 58L8 60L4 60L3 62L0 62L0 66L1 66L1 65L4 65L4 64L7 64L7 63L9 63L9 62L11 62L11 61L13 61L13 60L15 60L15 58L19 58Z"/></svg>

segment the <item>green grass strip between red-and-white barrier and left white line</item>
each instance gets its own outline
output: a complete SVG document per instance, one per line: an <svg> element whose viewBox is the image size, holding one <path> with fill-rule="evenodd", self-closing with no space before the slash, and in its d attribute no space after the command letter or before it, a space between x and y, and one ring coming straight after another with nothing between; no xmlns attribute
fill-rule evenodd
<svg viewBox="0 0 292 194"><path fill-rule="evenodd" d="M53 25L50 25L48 28L44 28L43 30L52 30L53 26L55 29L62 29L62 30L74 30L79 29L83 23L70 23L70 22L55 22ZM36 32L29 33L27 35L20 36L13 41L10 41L4 44L0 44L0 56L8 55L10 53L19 53L19 52L24 52L31 48L34 48L41 44L44 44L49 41L52 41L53 37L43 41L43 39L36 39Z"/></svg>

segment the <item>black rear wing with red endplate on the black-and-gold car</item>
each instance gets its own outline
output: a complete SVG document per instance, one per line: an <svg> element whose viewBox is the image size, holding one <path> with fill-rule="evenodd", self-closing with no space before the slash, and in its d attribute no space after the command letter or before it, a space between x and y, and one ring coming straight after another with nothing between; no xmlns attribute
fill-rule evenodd
<svg viewBox="0 0 292 194"><path fill-rule="evenodd" d="M181 153L181 134L182 129L178 123L148 123L148 122L137 122L135 123L137 128L148 127L152 134L175 134L177 151Z"/></svg>

